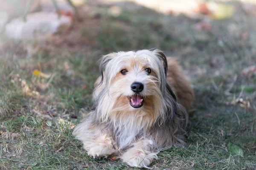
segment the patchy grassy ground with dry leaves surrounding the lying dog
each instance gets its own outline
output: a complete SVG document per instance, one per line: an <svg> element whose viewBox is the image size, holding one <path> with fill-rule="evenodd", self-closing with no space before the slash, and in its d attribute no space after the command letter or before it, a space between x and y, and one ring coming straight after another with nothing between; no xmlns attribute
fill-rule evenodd
<svg viewBox="0 0 256 170"><path fill-rule="evenodd" d="M160 152L150 167L255 170L256 76L244 69L256 64L256 15L239 1L224 20L126 3L88 3L82 21L44 39L1 37L0 169L137 169L90 158L72 132L92 105L101 55L159 48L178 58L195 101L186 146Z"/></svg>

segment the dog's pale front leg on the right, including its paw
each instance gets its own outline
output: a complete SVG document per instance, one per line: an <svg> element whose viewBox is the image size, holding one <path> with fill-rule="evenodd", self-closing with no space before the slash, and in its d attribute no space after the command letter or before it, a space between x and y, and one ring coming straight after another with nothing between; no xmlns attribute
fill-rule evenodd
<svg viewBox="0 0 256 170"><path fill-rule="evenodd" d="M133 147L123 153L120 158L131 167L148 168L148 165L157 159L157 153L151 151L152 146L153 141L151 139L142 139L133 143Z"/></svg>

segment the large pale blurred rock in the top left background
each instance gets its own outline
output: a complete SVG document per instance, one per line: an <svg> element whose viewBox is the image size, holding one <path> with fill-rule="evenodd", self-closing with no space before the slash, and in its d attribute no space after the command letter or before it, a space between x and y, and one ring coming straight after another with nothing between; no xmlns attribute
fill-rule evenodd
<svg viewBox="0 0 256 170"><path fill-rule="evenodd" d="M15 40L32 39L35 35L44 35L48 33L56 33L61 28L69 28L72 24L72 19L67 16L54 12L37 12L28 14L26 22L23 19L16 18L8 23L5 27L5 35L8 38Z"/></svg>

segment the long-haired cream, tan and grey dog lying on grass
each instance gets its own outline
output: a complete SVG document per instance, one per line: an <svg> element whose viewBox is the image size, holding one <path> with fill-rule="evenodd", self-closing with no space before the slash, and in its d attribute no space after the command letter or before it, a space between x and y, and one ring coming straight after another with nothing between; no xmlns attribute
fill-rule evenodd
<svg viewBox="0 0 256 170"><path fill-rule="evenodd" d="M194 92L176 59L160 50L105 55L93 108L73 134L89 156L146 167L160 150L183 146Z"/></svg>

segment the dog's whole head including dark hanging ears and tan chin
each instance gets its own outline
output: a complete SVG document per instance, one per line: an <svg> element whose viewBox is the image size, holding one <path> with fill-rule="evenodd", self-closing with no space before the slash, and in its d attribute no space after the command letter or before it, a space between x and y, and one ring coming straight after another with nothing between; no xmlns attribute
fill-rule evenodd
<svg viewBox="0 0 256 170"><path fill-rule="evenodd" d="M163 98L166 57L160 51L129 51L108 54L101 63L105 90L113 109L152 109Z"/></svg>

